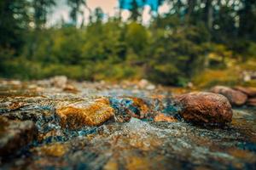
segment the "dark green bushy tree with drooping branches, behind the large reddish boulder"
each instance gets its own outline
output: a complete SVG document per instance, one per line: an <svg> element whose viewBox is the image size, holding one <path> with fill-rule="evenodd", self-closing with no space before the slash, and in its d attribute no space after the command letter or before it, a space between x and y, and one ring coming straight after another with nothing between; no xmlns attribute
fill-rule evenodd
<svg viewBox="0 0 256 170"><path fill-rule="evenodd" d="M207 31L203 27L176 27L157 31L150 45L148 78L169 85L188 82L203 68L206 39Z"/></svg>

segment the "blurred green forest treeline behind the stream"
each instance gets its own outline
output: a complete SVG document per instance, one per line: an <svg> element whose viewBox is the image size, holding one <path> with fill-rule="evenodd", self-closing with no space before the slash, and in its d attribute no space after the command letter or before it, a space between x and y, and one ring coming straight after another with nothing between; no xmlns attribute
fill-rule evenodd
<svg viewBox="0 0 256 170"><path fill-rule="evenodd" d="M170 11L151 11L143 26L143 7L136 0L125 22L120 14L106 20L102 9L91 11L86 0L67 0L72 22L49 27L56 0L1 0L0 77L147 78L184 85L204 69L224 69L227 59L256 58L255 0L159 3L165 2ZM81 8L90 12L86 25L77 21Z"/></svg>

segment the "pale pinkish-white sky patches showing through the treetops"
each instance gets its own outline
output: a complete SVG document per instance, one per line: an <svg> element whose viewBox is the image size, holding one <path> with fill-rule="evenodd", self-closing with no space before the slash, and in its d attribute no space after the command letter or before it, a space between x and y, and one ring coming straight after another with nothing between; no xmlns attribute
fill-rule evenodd
<svg viewBox="0 0 256 170"><path fill-rule="evenodd" d="M87 0L87 5L91 10L94 10L97 7L102 8L103 13L105 14L105 19L111 16L114 16L115 14L118 13L119 11L119 3L118 0ZM67 7L66 5L66 0L58 0L57 4L54 8L52 8L52 12L49 14L49 26L55 25L57 22L60 22L61 19L65 21L70 21L69 19L69 10L70 8ZM165 14L169 10L169 6L164 3L163 5L160 6L159 8L159 13L160 14ZM150 8L149 6L145 6L144 11L143 11L143 24L147 24L148 21L150 20L150 14L149 14ZM130 13L127 9L124 9L122 11L122 19L127 20L130 16ZM84 8L84 19L85 19L85 24L86 21L88 21L89 13L88 11ZM82 21L82 16L79 16L78 22L80 23Z"/></svg>

